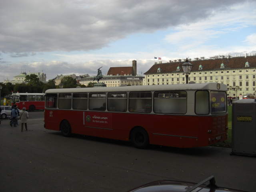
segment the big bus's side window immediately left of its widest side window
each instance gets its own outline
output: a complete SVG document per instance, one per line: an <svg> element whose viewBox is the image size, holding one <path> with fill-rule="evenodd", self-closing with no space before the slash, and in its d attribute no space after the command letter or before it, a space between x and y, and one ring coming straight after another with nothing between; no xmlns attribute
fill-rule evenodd
<svg viewBox="0 0 256 192"><path fill-rule="evenodd" d="M130 92L129 112L150 113L152 111L151 92Z"/></svg>

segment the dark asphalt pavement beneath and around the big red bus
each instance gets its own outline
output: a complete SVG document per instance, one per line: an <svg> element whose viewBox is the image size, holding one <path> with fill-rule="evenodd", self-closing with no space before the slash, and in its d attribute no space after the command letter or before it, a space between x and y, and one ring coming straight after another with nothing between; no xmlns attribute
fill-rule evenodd
<svg viewBox="0 0 256 192"><path fill-rule="evenodd" d="M0 125L1 192L126 192L154 180L200 182L254 192L256 158L230 156L231 149L179 149L44 129L43 112L29 112L28 131Z"/></svg>

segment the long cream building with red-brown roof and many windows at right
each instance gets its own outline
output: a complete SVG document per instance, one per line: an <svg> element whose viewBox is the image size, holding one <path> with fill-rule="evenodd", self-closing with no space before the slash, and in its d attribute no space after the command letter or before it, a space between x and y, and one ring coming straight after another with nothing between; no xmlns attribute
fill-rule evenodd
<svg viewBox="0 0 256 192"><path fill-rule="evenodd" d="M144 85L185 84L182 70L185 60L155 63L145 72ZM219 56L211 59L189 60L193 65L188 81L218 82L228 86L228 96L256 94L256 56Z"/></svg>

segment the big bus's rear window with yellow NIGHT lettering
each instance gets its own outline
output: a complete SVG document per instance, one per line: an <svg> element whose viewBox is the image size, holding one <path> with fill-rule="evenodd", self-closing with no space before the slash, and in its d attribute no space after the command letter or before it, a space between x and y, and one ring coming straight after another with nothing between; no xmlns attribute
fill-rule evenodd
<svg viewBox="0 0 256 192"><path fill-rule="evenodd" d="M227 101L226 92L224 91L211 91L210 92L210 109L211 114L226 113Z"/></svg>

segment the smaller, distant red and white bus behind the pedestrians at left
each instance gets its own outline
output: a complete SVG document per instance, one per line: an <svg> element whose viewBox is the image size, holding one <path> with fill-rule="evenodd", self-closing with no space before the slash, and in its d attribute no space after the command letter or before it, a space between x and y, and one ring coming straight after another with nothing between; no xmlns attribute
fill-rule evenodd
<svg viewBox="0 0 256 192"><path fill-rule="evenodd" d="M29 111L43 110L45 105L44 93L13 93L12 105L14 102L20 110L23 107Z"/></svg>

